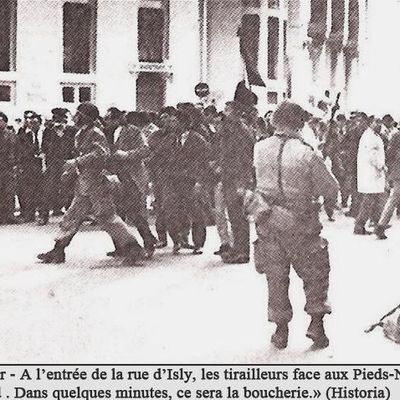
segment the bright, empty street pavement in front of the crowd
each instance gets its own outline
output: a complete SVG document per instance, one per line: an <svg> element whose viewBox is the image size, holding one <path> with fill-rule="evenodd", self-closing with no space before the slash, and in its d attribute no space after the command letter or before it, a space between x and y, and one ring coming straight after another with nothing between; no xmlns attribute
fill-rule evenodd
<svg viewBox="0 0 400 400"><path fill-rule="evenodd" d="M126 267L106 257L112 242L86 225L67 263L42 265L57 228L0 227L2 363L396 363L399 345L369 325L400 303L400 222L390 238L352 234L352 219L324 219L330 242L331 346L310 351L302 284L293 273L289 346L269 343L265 277L253 262L224 265L209 228L203 255L171 247Z"/></svg>

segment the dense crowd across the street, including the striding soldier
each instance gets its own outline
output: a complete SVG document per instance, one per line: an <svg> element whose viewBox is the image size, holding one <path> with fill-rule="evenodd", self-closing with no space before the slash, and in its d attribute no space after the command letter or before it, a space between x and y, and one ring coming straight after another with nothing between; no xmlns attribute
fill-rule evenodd
<svg viewBox="0 0 400 400"><path fill-rule="evenodd" d="M174 254L182 248L201 254L206 228L215 224L220 238L215 254L225 263L247 263L250 229L243 203L255 184L254 145L275 131L272 115L261 117L254 105L237 99L222 112L180 103L157 114L112 107L104 116L82 103L74 123L68 110L55 108L49 120L26 111L17 127L0 113L0 223L46 225L50 216L69 210L56 241L59 247L64 241L63 251L41 255L45 262L65 260L66 245L87 219L113 232L110 256L131 254L133 248L135 259L166 247L168 235ZM326 115L310 116L302 136L339 183L338 198L323 201L328 218L333 221L342 207L355 218L355 234L372 233L373 226L384 239L400 201L397 123L390 115ZM150 192L156 235L146 209ZM125 222L136 226L142 250L121 228Z"/></svg>

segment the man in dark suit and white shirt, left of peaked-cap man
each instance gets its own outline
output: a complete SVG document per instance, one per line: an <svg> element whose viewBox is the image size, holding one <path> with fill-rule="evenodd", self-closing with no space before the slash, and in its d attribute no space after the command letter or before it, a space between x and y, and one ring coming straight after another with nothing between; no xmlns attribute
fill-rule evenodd
<svg viewBox="0 0 400 400"><path fill-rule="evenodd" d="M42 118L34 111L24 112L24 124L17 133L17 194L22 222L35 221L43 189L39 130Z"/></svg>

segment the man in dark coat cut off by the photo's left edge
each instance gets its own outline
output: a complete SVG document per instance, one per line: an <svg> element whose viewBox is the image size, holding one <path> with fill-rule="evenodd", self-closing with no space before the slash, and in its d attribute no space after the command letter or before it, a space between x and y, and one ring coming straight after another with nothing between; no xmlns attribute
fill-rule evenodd
<svg viewBox="0 0 400 400"><path fill-rule="evenodd" d="M14 218L14 138L7 129L8 117L0 112L0 224Z"/></svg>

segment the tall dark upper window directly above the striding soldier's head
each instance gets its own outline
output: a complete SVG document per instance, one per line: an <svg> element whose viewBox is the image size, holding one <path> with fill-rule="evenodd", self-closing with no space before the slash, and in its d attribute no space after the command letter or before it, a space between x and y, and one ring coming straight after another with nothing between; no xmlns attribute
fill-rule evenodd
<svg viewBox="0 0 400 400"><path fill-rule="evenodd" d="M63 6L64 72L89 74L95 67L95 4L65 2Z"/></svg>

